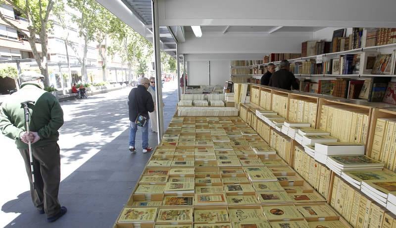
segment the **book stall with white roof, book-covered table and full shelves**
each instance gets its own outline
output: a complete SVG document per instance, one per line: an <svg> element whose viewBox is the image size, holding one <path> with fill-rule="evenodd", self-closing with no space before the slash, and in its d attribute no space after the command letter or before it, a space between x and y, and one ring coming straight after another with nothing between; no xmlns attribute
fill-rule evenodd
<svg viewBox="0 0 396 228"><path fill-rule="evenodd" d="M114 228L396 226L396 2L98 1L184 80Z"/></svg>

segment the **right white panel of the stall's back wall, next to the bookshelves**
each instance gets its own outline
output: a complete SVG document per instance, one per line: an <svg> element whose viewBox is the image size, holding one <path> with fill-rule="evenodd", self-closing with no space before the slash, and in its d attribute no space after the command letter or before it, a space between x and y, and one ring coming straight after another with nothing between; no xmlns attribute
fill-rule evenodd
<svg viewBox="0 0 396 228"><path fill-rule="evenodd" d="M224 85L230 79L230 60L210 60L210 85Z"/></svg>

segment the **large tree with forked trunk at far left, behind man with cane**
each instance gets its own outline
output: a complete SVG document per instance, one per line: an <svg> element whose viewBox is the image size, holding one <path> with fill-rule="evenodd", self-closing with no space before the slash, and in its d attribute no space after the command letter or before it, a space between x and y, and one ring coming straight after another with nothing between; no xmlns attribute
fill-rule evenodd
<svg viewBox="0 0 396 228"><path fill-rule="evenodd" d="M49 21L49 14L53 10L60 10L62 8L62 2L55 2L54 0L0 0L0 3L11 5L27 20L29 33L24 32L19 28L18 22L7 19L0 11L0 18L28 40L33 57L40 68L41 74L45 77L44 84L45 86L49 86L47 33L52 24ZM41 54L36 47L37 35L40 38Z"/></svg>

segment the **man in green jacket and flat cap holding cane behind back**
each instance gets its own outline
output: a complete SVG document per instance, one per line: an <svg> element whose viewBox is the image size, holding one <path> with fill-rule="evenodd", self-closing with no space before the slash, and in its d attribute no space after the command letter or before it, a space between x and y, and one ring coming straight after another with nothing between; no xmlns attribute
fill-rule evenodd
<svg viewBox="0 0 396 228"><path fill-rule="evenodd" d="M40 214L47 214L47 221L54 222L63 216L67 209L58 201L60 182L60 155L57 144L58 129L63 125L63 111L57 99L43 90L44 76L26 71L20 75L21 89L10 95L0 107L0 130L15 140L25 162L30 182L30 194L34 206ZM22 102L27 100L31 114L30 133L25 131L25 116ZM28 142L32 143L33 185Z"/></svg>

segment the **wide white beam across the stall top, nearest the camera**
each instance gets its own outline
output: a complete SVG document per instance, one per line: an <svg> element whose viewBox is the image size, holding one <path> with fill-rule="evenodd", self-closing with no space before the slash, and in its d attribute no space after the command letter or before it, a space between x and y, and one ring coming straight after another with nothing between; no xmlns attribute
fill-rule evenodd
<svg viewBox="0 0 396 228"><path fill-rule="evenodd" d="M158 0L158 6L164 26L396 27L395 0L381 0L381 13L373 13L379 5L372 0L227 0L226 8L221 0Z"/></svg>

